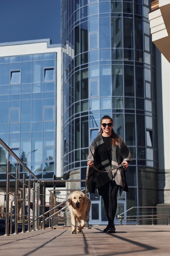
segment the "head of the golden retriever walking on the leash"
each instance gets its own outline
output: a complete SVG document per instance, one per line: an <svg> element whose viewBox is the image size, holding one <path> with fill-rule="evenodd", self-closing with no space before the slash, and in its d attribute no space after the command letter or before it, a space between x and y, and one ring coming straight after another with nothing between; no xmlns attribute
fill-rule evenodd
<svg viewBox="0 0 170 256"><path fill-rule="evenodd" d="M74 209L80 209L84 204L85 196L83 192L74 191L68 196L68 206L71 205Z"/></svg>

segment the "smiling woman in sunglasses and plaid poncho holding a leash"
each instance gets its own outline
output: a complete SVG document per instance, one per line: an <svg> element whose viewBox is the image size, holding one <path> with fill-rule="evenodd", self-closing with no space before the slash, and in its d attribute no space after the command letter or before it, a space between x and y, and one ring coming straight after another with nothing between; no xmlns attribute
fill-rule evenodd
<svg viewBox="0 0 170 256"><path fill-rule="evenodd" d="M104 232L115 233L114 219L117 210L117 192L128 191L125 171L114 169L119 164L128 167L131 162L130 150L120 135L113 130L113 119L104 116L101 119L101 131L93 140L87 158L90 167L88 175L88 191L98 190L104 201L104 209L108 218L108 225ZM97 170L91 168L95 166ZM109 171L113 169L113 171Z"/></svg>

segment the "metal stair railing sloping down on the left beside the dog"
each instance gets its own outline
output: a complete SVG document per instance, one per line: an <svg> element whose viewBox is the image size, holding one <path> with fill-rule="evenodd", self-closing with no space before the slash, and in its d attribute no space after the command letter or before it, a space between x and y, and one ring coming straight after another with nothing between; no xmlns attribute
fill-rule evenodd
<svg viewBox="0 0 170 256"><path fill-rule="evenodd" d="M38 179L2 139L0 139L0 180L0 219L5 220L6 236L12 232L18 234L19 228L24 233L40 228L45 229L49 226L53 227L57 225L59 218L68 219L62 216L61 211L66 212L66 191L70 193L72 189L63 189L63 191L65 190L64 201L56 202L57 195L55 193L62 189L55 189L52 192L49 186L54 187L54 184L61 182L63 184L77 182L78 187L81 182L85 184L85 180ZM85 188L82 189L82 191L84 190ZM46 206L47 197L52 198L50 199L50 209L47 209ZM48 220L51 220L50 224L46 224Z"/></svg>

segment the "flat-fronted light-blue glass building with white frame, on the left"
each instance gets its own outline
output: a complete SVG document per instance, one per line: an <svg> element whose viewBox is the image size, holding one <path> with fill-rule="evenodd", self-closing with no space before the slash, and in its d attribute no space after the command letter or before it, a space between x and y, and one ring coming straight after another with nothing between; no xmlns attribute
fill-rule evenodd
<svg viewBox="0 0 170 256"><path fill-rule="evenodd" d="M56 149L61 129L61 47L50 45L50 40L11 45L0 45L0 138L38 178L53 179L61 158ZM1 152L0 164L6 161ZM4 175L1 170L0 180Z"/></svg>

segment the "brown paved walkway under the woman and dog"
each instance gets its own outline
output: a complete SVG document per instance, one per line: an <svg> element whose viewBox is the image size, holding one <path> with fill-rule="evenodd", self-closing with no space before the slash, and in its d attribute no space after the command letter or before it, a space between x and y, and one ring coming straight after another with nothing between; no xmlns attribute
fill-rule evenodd
<svg viewBox="0 0 170 256"><path fill-rule="evenodd" d="M115 234L93 225L71 234L71 227L0 236L1 256L170 256L170 226L116 226Z"/></svg>

